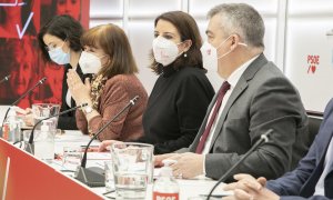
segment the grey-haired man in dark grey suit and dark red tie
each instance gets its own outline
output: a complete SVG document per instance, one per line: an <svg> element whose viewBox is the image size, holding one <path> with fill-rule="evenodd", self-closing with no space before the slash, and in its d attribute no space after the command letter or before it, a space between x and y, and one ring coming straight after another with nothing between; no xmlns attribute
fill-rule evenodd
<svg viewBox="0 0 333 200"><path fill-rule="evenodd" d="M299 92L264 57L264 23L255 9L244 3L221 4L209 18L209 43L201 49L203 63L215 66L225 81L193 143L178 153L155 157L155 164L170 158L178 160L172 166L174 176L219 179L261 134L273 129L271 141L235 172L278 178L294 169L310 146Z"/></svg>

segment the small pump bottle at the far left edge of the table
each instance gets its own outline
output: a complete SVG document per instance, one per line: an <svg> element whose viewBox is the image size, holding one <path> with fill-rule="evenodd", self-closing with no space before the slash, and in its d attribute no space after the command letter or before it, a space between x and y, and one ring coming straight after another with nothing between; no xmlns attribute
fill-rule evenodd
<svg viewBox="0 0 333 200"><path fill-rule="evenodd" d="M21 122L17 117L14 107L10 107L4 123L2 124L2 138L9 142L21 140Z"/></svg>

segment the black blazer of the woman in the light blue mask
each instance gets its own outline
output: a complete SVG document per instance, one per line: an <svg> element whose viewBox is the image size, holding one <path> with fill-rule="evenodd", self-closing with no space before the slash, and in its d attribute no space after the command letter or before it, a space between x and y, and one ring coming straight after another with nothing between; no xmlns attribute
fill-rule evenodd
<svg viewBox="0 0 333 200"><path fill-rule="evenodd" d="M63 74L63 79L62 79L62 96L61 96L62 102L61 102L60 112L71 108L65 102L65 96L67 96L67 91L68 91L67 72L68 72L69 69L72 69L71 64L65 64L64 66L64 74ZM88 77L92 78L91 73L83 74L79 64L77 67L77 72L78 72L78 74L79 74L79 77L81 78L82 81L84 81L84 79L88 78ZM71 98L71 106L72 107L77 106L73 98ZM77 121L75 121L75 111L71 111L71 112L68 112L63 116L60 116L59 121L58 121L58 128L62 129L62 130L78 130Z"/></svg>

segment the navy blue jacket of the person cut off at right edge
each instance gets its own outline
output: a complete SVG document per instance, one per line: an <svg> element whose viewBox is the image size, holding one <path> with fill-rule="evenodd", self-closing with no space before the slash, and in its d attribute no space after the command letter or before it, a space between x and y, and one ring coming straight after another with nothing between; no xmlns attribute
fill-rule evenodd
<svg viewBox="0 0 333 200"><path fill-rule="evenodd" d="M297 168L280 179L269 181L266 188L274 191L281 199L333 199L333 166L324 180L325 197L315 196L315 186L324 170L324 160L330 141L333 137L333 99L329 102L324 113L324 120L314 139L306 157Z"/></svg>

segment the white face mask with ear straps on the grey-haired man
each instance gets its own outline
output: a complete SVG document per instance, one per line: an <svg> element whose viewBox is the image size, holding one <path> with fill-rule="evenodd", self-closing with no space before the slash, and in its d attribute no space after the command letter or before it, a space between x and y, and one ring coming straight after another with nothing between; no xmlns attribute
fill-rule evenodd
<svg viewBox="0 0 333 200"><path fill-rule="evenodd" d="M231 37L231 36L230 36ZM208 41L205 41L202 47L200 48L201 54L202 54L202 63L203 68L208 70L213 70L218 71L218 60L226 57L229 53L231 53L233 50L231 49L226 53L222 54L221 57L218 58L218 50L228 41L230 38L228 37L224 41L220 43L218 48L214 48L212 44L210 44ZM244 46L248 47L246 43L239 42L239 46Z"/></svg>

